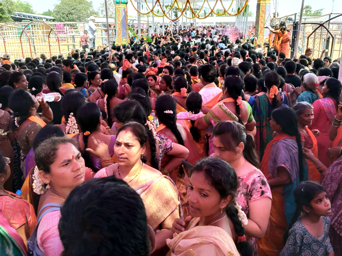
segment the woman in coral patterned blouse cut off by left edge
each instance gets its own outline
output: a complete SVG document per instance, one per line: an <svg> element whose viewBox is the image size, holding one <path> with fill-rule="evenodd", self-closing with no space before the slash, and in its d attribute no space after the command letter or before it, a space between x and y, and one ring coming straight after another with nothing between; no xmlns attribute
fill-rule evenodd
<svg viewBox="0 0 342 256"><path fill-rule="evenodd" d="M17 251L27 255L27 239L32 235L36 227L36 214L30 203L21 197L4 189L3 185L11 174L9 158L4 158L0 152L0 241L2 236L11 240ZM0 242L0 252L2 242ZM6 254L5 251L1 255Z"/></svg>

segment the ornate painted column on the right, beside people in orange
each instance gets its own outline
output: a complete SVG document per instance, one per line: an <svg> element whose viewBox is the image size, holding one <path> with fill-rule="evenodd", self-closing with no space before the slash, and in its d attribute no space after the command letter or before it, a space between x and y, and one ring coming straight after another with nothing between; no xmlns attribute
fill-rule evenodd
<svg viewBox="0 0 342 256"><path fill-rule="evenodd" d="M264 43L265 38L268 38L269 30L264 27L269 26L270 18L271 0L258 0L255 15L255 37L258 38L258 43Z"/></svg>

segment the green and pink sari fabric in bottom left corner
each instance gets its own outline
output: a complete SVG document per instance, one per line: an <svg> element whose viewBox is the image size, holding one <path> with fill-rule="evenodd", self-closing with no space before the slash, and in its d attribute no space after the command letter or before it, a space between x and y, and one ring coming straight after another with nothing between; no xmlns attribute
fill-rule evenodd
<svg viewBox="0 0 342 256"><path fill-rule="evenodd" d="M0 208L0 255L26 256L27 250L24 240L11 227L7 219L1 213Z"/></svg>

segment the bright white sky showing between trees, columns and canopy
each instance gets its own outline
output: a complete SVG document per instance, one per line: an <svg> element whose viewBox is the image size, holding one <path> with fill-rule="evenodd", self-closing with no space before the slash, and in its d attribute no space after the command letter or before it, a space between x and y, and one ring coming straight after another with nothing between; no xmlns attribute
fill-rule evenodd
<svg viewBox="0 0 342 256"><path fill-rule="evenodd" d="M98 7L98 3L100 3L102 0L92 0L93 2L93 6L94 9L97 9ZM111 0L108 0L111 1ZM271 10L272 12L274 12L274 1L275 0L271 0ZM279 7L278 7L278 13L280 16L285 16L288 14L292 14L295 12L300 12L300 8L301 8L301 1L300 0L278 0L279 2ZM332 1L333 0L325 0L324 1L324 5L322 4L323 1L321 0L306 0L305 4L309 4L312 6L313 10L317 10L317 9L321 9L324 8L323 10L323 14L328 14L331 12L331 6L332 6ZM334 13L342 13L342 4L340 2L341 0L335 0L334 3ZM35 11L37 11L38 13L42 13L44 11L47 11L48 9L52 10L54 4L58 3L58 0L50 0L50 1L46 1L46 0L30 0L29 1L32 6L33 9ZM219 3L218 3L219 5ZM217 6L218 6L217 5ZM227 6L228 7L228 3ZM250 10L254 13L255 15L255 10L256 10L256 6L257 6L257 0L250 0L249 1L249 6L250 6ZM81 6L80 6L81 8ZM134 15L134 13L136 13L136 11L133 9L133 6L131 4L131 2L128 3L128 15Z"/></svg>

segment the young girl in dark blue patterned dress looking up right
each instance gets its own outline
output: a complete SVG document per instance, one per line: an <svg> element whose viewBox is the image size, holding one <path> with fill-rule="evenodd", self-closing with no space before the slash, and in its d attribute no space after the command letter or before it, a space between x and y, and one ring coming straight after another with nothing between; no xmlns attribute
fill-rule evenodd
<svg viewBox="0 0 342 256"><path fill-rule="evenodd" d="M305 181L297 186L294 195L297 209L280 256L333 256L328 236L331 204L326 189L316 182Z"/></svg>

